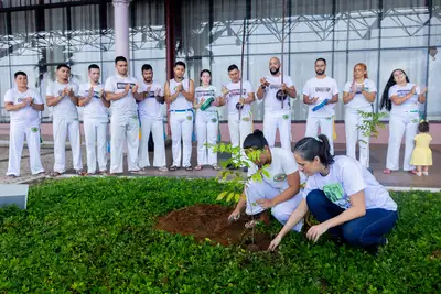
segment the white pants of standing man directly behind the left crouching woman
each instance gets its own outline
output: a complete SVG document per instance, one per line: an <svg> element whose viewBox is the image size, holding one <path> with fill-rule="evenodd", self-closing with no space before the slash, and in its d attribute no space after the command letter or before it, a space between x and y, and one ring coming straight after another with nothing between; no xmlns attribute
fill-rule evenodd
<svg viewBox="0 0 441 294"><path fill-rule="evenodd" d="M228 113L228 130L232 145L234 148L240 146L244 150L244 141L248 134L252 133L252 116L251 111L241 112L240 121L239 113ZM244 160L246 160L245 152L243 153Z"/></svg>

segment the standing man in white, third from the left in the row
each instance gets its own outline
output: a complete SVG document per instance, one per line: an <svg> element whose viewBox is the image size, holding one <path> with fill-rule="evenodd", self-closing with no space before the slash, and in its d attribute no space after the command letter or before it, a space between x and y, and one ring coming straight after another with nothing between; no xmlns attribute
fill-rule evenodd
<svg viewBox="0 0 441 294"><path fill-rule="evenodd" d="M96 64L88 67L89 83L79 87L78 105L84 107L84 134L86 137L87 174L96 173L97 154L98 168L101 174L107 174L107 128L109 117L107 108L110 102L104 95L104 86L99 83L100 69ZM95 144L97 152L95 151Z"/></svg>

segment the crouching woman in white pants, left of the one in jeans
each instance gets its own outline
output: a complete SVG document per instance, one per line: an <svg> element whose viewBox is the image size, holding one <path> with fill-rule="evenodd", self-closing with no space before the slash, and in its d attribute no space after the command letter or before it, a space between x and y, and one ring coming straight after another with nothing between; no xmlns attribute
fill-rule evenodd
<svg viewBox="0 0 441 294"><path fill-rule="evenodd" d="M240 198L228 219L239 219L240 211L246 205L246 214L256 216L256 220L245 225L247 228L260 220L268 222L269 216L266 210L269 208L275 218L284 225L302 200L302 195L299 193L300 173L292 153L281 148L270 149L260 130L255 130L245 139L244 150L255 164L251 164L248 176L260 172L262 166L268 171L269 176L262 175L261 182L249 181L244 189L246 197ZM256 154L255 151L260 151L259 159L251 159L251 153ZM290 229L301 231L303 221L298 221Z"/></svg>

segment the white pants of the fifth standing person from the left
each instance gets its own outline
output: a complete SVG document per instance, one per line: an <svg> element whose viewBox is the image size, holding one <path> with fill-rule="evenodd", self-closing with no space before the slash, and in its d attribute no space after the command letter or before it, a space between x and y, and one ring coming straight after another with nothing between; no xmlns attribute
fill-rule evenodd
<svg viewBox="0 0 441 294"><path fill-rule="evenodd" d="M149 137L150 132L154 142L153 166L165 166L165 142L164 142L164 123L162 118L141 118L141 140L139 142L139 166L150 166L149 161Z"/></svg>

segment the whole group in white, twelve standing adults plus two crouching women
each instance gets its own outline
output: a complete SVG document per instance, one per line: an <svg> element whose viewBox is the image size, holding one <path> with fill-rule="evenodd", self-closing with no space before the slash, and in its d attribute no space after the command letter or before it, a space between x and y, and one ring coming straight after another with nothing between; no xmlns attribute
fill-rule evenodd
<svg viewBox="0 0 441 294"><path fill-rule="evenodd" d="M340 101L335 79L326 76L326 61L314 63L315 76L303 87L303 102L309 106L305 138L291 150L290 97L297 96L292 78L280 72L280 61L269 61L269 74L260 79L256 89L236 65L228 67L230 81L220 91L212 85L212 73L201 72L200 86L185 77L185 64L174 64L174 77L164 86L153 80L153 68L141 68L142 81L128 75L128 63L122 56L115 59L117 74L100 84L100 69L88 68L89 83L79 87L69 80L71 68L60 65L56 80L46 89L46 105L53 108L54 175L65 172L65 142L68 135L73 165L84 174L77 107L84 107L84 132L87 151L87 174L108 174L107 134L110 108L110 174L122 173L123 146L127 144L128 171L146 174L150 166L148 139L154 142L153 166L161 171L176 171L181 166L192 171L192 134L195 124L197 165L220 170L217 155L207 144L216 144L219 134L217 108L228 109L228 129L233 146L243 153L259 150L248 173L262 166L269 171L261 183L249 183L229 219L239 217L246 207L248 215L261 215L271 208L275 217L284 225L271 242L275 249L291 229L300 231L302 219L310 210L321 221L308 231L314 241L330 231L334 237L365 248L386 243L385 233L397 220L397 205L388 192L367 171L369 166L369 137L357 126L368 120L377 96L375 83L368 79L365 64L354 66L353 79L343 89L347 156L334 156L333 124L335 104ZM20 161L24 138L30 150L32 174L45 173L40 160L40 116L44 101L28 87L26 74L14 75L15 87L8 90L4 107L11 115L8 176L20 175ZM390 112L389 146L385 174L399 170L398 150L406 133L404 170L412 173L413 138L419 126L419 105L426 101L426 89L411 84L406 73L395 69L384 89L380 106ZM265 104L263 132L252 132L251 104ZM162 108L170 104L170 124L173 162L165 161ZM427 122L426 122L427 123ZM428 124L421 130L428 131ZM319 128L321 134L319 133ZM281 148L275 148L279 130ZM424 139L426 141L430 139ZM181 152L182 141L182 152ZM421 141L421 140L420 140ZM359 160L356 144L359 142ZM421 153L422 151L420 151ZM182 153L182 155L181 155ZM413 157L412 157L413 161ZM431 159L430 159L431 161ZM230 166L235 168L234 166ZM427 167L427 166L426 166ZM423 170L427 174L427 168ZM308 176L308 179L306 179ZM305 184L304 188L301 188ZM257 220L259 218L256 218ZM262 217L265 220L265 217ZM254 226L256 221L248 222Z"/></svg>

